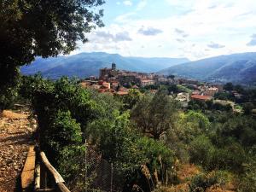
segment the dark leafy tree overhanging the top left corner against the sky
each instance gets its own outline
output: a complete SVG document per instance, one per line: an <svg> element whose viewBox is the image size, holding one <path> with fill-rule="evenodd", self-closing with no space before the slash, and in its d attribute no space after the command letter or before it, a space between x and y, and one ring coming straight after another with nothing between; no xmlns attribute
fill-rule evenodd
<svg viewBox="0 0 256 192"><path fill-rule="evenodd" d="M0 94L17 84L19 67L36 56L68 54L85 32L102 26L103 0L3 0L0 3Z"/></svg>

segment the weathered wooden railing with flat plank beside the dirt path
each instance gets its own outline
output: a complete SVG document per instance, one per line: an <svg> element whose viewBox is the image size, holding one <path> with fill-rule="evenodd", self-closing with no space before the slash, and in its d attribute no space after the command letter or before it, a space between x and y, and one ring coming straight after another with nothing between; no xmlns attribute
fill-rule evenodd
<svg viewBox="0 0 256 192"><path fill-rule="evenodd" d="M32 148L27 154L26 163L21 174L21 186L22 191L70 192L64 179L55 170L55 167L49 163L44 152L35 153Z"/></svg>

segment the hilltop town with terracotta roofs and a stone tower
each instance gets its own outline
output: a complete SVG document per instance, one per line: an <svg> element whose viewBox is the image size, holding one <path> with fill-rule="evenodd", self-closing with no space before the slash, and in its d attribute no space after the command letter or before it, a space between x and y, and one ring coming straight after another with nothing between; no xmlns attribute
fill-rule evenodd
<svg viewBox="0 0 256 192"><path fill-rule="evenodd" d="M159 75L157 73L138 73L119 70L115 63L110 68L102 68L99 78L90 76L81 80L84 88L98 90L101 93L125 96L129 90L149 90L155 93L160 85L167 86L170 96L182 103L183 108L188 108L190 101L212 101L220 106L232 108L233 111L241 112L241 108L234 101L221 99L222 94L228 94L236 100L241 99L241 93L236 90L224 90L224 84L212 84L200 82L196 79L184 79L174 75Z"/></svg>

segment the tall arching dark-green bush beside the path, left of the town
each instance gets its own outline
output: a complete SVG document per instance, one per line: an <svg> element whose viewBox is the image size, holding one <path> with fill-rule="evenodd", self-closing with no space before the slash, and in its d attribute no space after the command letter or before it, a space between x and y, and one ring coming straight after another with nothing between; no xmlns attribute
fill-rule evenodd
<svg viewBox="0 0 256 192"><path fill-rule="evenodd" d="M61 111L70 111L84 132L90 120L96 119L101 108L90 99L90 91L79 87L76 82L67 78L59 79L55 84L46 84L42 89L36 90L33 96L33 106L38 115L38 124L47 129L49 119ZM44 134L44 131L41 133Z"/></svg>

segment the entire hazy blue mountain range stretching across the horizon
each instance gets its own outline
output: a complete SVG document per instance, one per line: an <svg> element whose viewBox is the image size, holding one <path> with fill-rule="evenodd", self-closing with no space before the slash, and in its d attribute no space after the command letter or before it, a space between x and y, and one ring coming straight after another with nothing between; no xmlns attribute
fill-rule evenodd
<svg viewBox="0 0 256 192"><path fill-rule="evenodd" d="M20 67L21 73L31 75L41 72L44 77L58 79L61 76L85 78L98 76L99 69L111 67L144 73L176 75L202 81L239 84L256 84L256 53L220 55L199 61L186 58L125 57L104 52L78 55L36 58L32 64Z"/></svg>

